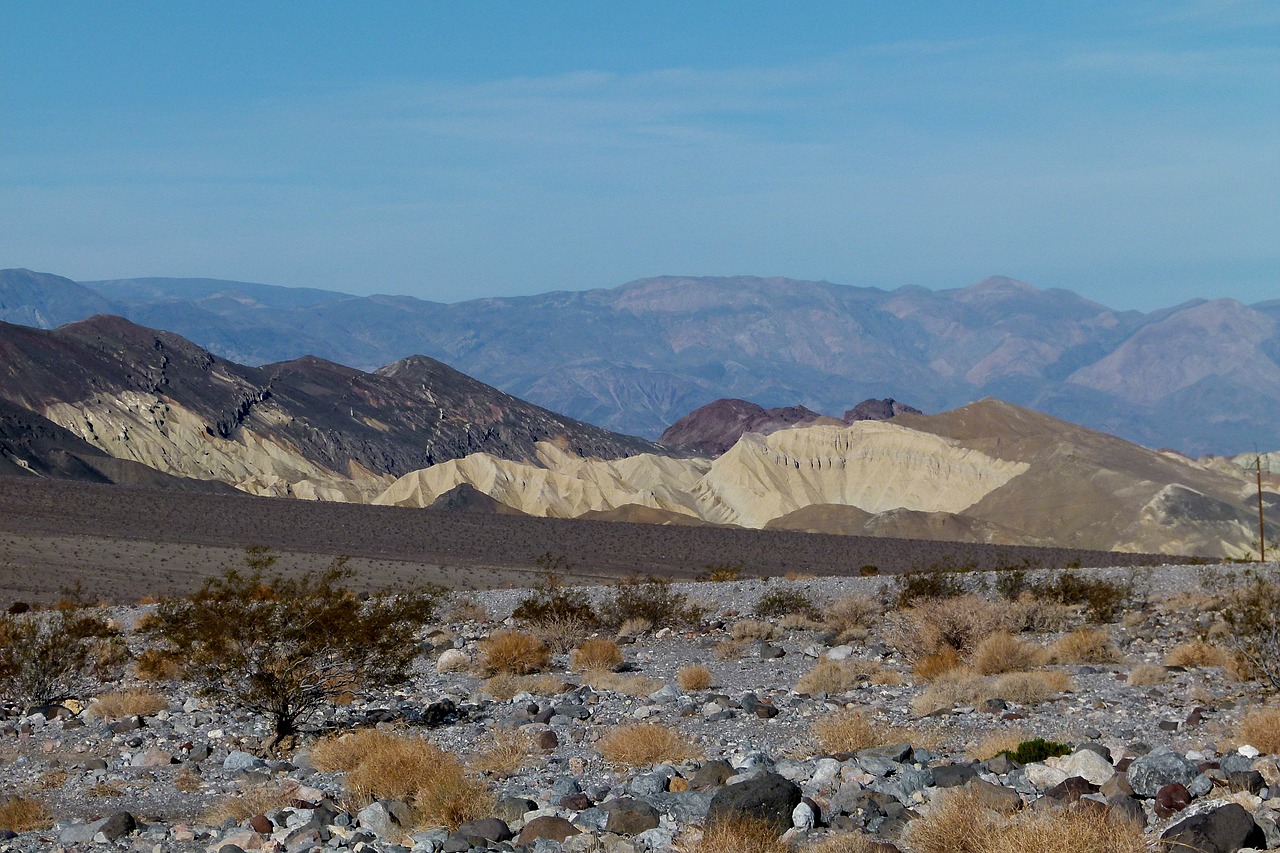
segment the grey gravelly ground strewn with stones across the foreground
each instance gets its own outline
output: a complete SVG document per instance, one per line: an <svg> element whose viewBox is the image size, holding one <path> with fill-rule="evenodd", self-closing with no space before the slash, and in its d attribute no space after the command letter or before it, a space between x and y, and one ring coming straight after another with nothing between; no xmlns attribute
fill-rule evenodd
<svg viewBox="0 0 1280 853"><path fill-rule="evenodd" d="M20 802L47 818L4 831L0 850L643 853L698 849L709 815L750 812L776 818L796 849L835 838L826 849L933 853L945 848L914 827L960 794L993 813L1108 809L1142 822L1152 845L1162 835L1183 845L1170 849L1280 849L1280 766L1267 752L1277 747L1240 729L1275 699L1233 676L1212 646L1188 646L1217 642L1215 607L1234 571L1080 570L1126 589L1114 621L1094 624L1082 607L1004 601L992 574L960 576L988 603L954 598L950 611L881 612L901 592L881 578L677 584L668 589L703 619L626 626L618 671L581 671L568 649L585 633L561 624L544 630L547 672L492 679L479 671L485 638L518 628L511 613L529 592L466 593L443 608L412 683L324 710L283 753L265 751L264 719L132 670L65 707L10 708L0 816ZM590 594L600 603L611 592ZM879 607L832 616L847 597ZM791 612L758 617L769 601ZM815 610L800 612L804 602ZM109 612L128 628L148 607ZM957 658L923 654L957 611L973 633ZM1012 642L982 647L1001 626ZM129 643L143 651L137 635ZM123 689L152 707L113 713L95 701ZM321 768L333 738L370 727L458 756L481 783L476 808L460 812L471 820L430 826L412 795L370 802L352 776ZM678 734L669 760L620 757L609 744L659 729ZM997 756L1033 738L1066 754Z"/></svg>

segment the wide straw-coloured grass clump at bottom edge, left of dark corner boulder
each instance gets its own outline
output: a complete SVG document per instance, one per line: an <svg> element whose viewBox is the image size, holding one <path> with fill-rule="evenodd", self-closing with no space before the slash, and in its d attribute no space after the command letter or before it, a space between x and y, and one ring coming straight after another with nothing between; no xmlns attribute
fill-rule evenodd
<svg viewBox="0 0 1280 853"><path fill-rule="evenodd" d="M911 822L916 853L1143 853L1143 827L1101 809L996 812L968 789L941 794Z"/></svg>

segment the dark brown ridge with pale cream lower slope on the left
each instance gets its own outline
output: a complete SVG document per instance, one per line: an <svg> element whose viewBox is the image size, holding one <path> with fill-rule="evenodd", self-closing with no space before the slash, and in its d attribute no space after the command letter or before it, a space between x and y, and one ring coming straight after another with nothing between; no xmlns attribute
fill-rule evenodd
<svg viewBox="0 0 1280 853"><path fill-rule="evenodd" d="M323 359L246 368L118 316L0 324L0 398L118 459L256 494L365 500L396 476L539 442L600 457L662 452L504 394L422 356L376 373Z"/></svg>

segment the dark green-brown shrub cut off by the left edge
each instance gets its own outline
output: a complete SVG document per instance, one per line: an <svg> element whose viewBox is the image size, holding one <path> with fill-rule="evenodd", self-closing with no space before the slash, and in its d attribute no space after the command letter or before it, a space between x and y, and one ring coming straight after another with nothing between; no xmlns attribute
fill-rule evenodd
<svg viewBox="0 0 1280 853"><path fill-rule="evenodd" d="M119 631L84 607L0 616L0 694L49 704L87 692L104 642Z"/></svg>

